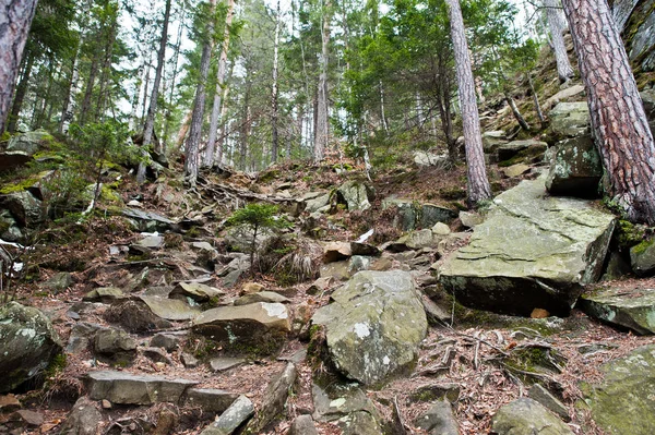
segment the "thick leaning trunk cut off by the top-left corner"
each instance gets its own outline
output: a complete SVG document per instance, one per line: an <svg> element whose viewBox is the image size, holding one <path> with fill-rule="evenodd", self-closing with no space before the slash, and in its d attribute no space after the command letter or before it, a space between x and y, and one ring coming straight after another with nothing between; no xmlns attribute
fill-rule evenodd
<svg viewBox="0 0 655 435"><path fill-rule="evenodd" d="M2 133L29 25L36 11L36 0L0 0L0 133Z"/></svg>

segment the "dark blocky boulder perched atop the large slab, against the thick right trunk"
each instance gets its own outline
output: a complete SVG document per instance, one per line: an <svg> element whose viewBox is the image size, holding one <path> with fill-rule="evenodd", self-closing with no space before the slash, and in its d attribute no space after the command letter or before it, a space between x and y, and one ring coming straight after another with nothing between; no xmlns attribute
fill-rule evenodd
<svg viewBox="0 0 655 435"><path fill-rule="evenodd" d="M602 177L600 155L592 136L585 134L556 145L546 189L551 195L597 197Z"/></svg>

